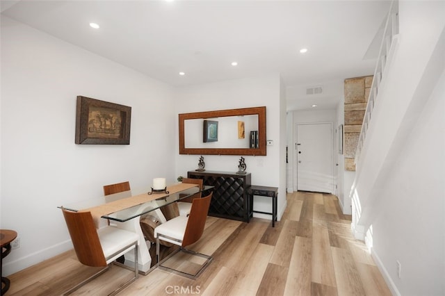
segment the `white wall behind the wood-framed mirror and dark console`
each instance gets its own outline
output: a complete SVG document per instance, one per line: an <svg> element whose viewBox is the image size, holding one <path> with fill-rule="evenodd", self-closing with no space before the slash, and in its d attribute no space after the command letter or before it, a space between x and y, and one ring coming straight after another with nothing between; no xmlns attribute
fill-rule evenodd
<svg viewBox="0 0 445 296"><path fill-rule="evenodd" d="M175 100L177 104L175 113L193 113L211 110L225 110L229 108L248 108L266 106L266 135L273 140L274 145L267 147L267 156L245 156L247 172L252 174L252 184L273 186L279 188L278 213L279 218L284 212L286 202L285 159L282 151L286 149L286 126L282 126L285 114L282 115L280 97L280 76L278 74L265 74L246 79L236 79L204 85L194 85L177 89ZM283 117L280 120L280 116ZM178 120L176 120L178 126ZM178 127L176 128L177 134ZM284 137L284 139L282 139ZM284 146L283 146L284 145ZM177 142L177 151L179 143ZM203 155L209 171L236 172L240 156ZM190 170L197 169L199 155L178 155L177 176L186 176ZM283 176L280 176L281 172ZM282 179L282 180L281 180ZM254 197L254 209L258 211L271 211L271 200L268 197ZM254 214L255 217L270 219L270 215Z"/></svg>

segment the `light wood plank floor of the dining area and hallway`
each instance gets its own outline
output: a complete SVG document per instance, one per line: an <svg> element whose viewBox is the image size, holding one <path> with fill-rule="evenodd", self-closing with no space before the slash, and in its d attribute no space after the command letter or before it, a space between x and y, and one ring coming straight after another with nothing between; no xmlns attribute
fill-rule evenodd
<svg viewBox="0 0 445 296"><path fill-rule="evenodd" d="M213 254L213 262L198 279L156 269L121 295L391 295L337 197L294 192L287 202L275 228L270 220L208 217L191 249ZM67 252L11 274L7 295L60 295L94 272ZM131 272L113 266L74 295L106 295L124 277Z"/></svg>

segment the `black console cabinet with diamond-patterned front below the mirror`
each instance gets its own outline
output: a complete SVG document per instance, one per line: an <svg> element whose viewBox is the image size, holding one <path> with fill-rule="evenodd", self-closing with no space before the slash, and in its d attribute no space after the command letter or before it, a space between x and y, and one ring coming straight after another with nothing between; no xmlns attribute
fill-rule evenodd
<svg viewBox="0 0 445 296"><path fill-rule="evenodd" d="M247 190L251 183L250 173L190 171L187 176L188 178L202 179L204 185L214 187L209 215L249 221Z"/></svg>

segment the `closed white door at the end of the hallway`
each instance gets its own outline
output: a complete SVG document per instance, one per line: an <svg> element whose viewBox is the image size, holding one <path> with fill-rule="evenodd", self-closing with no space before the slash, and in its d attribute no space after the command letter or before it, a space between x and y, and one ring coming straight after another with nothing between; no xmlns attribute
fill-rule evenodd
<svg viewBox="0 0 445 296"><path fill-rule="evenodd" d="M297 124L297 190L333 191L332 123Z"/></svg>

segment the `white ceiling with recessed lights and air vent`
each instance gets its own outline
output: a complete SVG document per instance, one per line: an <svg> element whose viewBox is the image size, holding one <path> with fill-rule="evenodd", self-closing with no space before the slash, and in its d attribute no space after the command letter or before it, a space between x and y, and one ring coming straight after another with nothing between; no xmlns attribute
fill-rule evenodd
<svg viewBox="0 0 445 296"><path fill-rule="evenodd" d="M389 4L1 0L1 11L177 87L279 73L287 109L302 110L312 104L335 108L344 79L373 74ZM302 47L309 51L300 54ZM323 93L307 96L313 86Z"/></svg>

